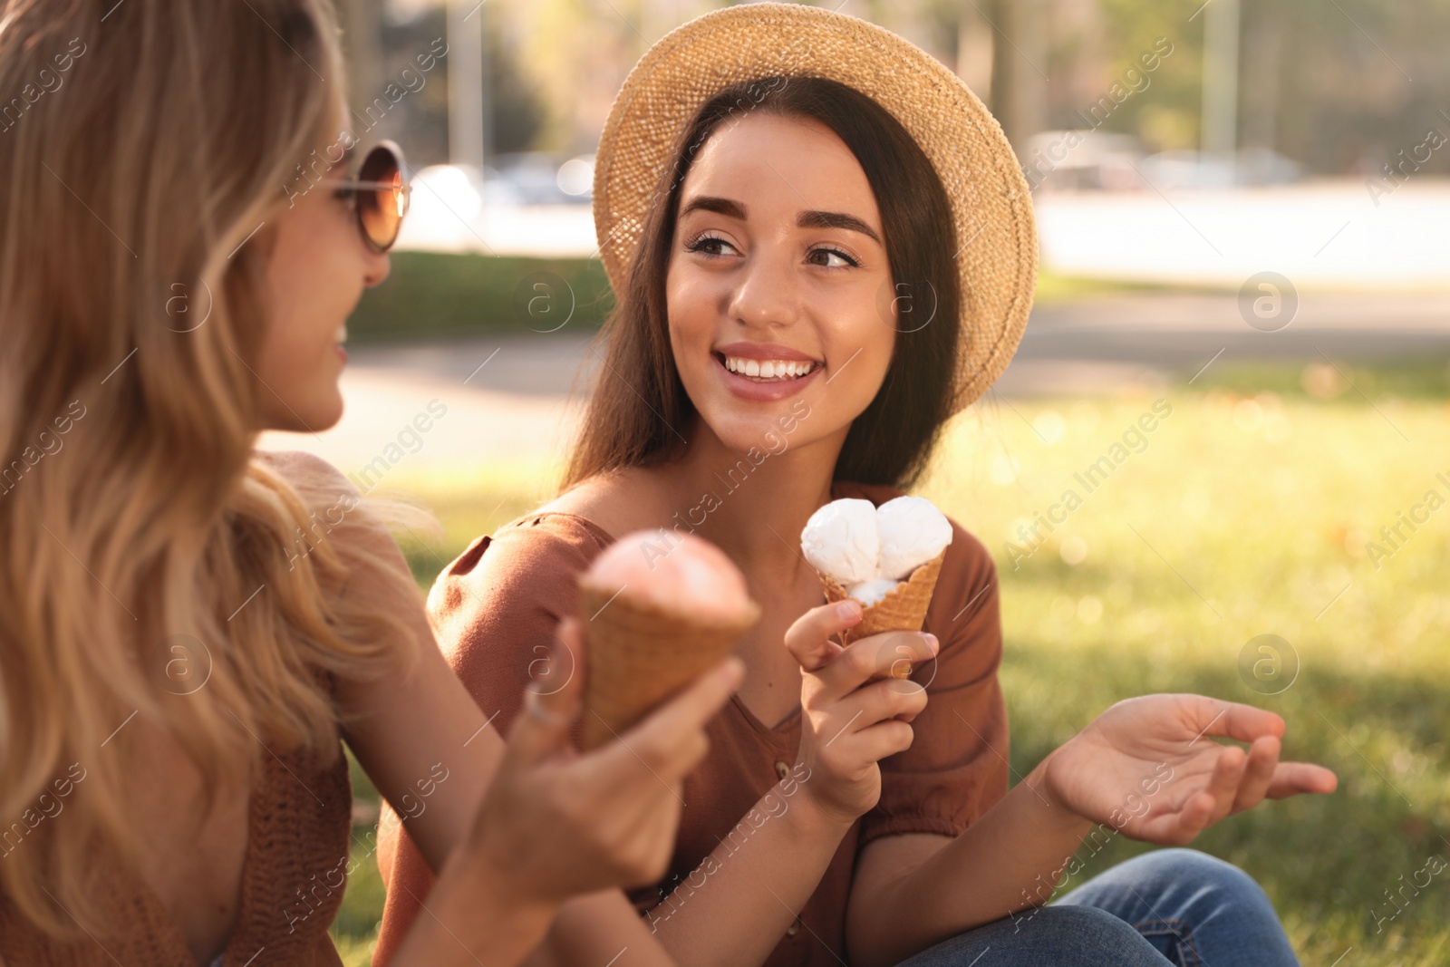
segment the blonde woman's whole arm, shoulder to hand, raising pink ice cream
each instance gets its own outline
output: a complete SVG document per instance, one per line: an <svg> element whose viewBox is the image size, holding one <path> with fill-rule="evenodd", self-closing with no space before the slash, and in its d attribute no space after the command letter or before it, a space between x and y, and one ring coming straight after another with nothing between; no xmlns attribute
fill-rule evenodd
<svg viewBox="0 0 1450 967"><path fill-rule="evenodd" d="M278 455L274 462L304 493L351 490L323 461ZM579 681L571 678L571 686L525 702L532 712L518 716L506 748L438 651L402 552L381 522L360 507L328 539L357 565L342 593L384 602L412 631L409 641L394 642L397 674L338 678L341 710L352 719L349 747L441 873L394 963L516 964L560 909L566 918L576 908L597 910L597 897L612 893L618 905L605 910L616 913L594 919L597 942L587 947L587 960L624 929L632 944L621 967L673 964L647 932L639 935L639 921L618 890L600 889L663 874L679 787L703 755L703 723L728 699L738 670L705 676L622 741L589 757L568 745L580 706ZM566 622L558 642L571 654L552 658L574 667L581 655L577 622ZM539 710L548 715L541 719ZM584 899L571 900L579 895Z"/></svg>

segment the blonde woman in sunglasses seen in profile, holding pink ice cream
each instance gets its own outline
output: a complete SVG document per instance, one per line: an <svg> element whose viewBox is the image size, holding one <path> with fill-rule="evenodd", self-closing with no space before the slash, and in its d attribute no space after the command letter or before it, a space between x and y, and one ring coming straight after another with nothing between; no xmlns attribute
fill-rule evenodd
<svg viewBox="0 0 1450 967"><path fill-rule="evenodd" d="M339 135L336 30L0 1L0 964L338 964L339 738L441 870L399 961L516 964L570 896L661 876L738 680L584 757L577 687L531 693L505 747L380 518L254 452L338 419L406 207L396 149Z"/></svg>

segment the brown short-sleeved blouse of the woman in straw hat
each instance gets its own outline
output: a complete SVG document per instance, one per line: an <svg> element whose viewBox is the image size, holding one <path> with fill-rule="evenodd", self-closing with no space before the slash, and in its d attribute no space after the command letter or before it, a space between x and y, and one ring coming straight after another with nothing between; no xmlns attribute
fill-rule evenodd
<svg viewBox="0 0 1450 967"><path fill-rule="evenodd" d="M838 483L832 499L880 505L900 491ZM576 613L577 576L613 538L570 513L535 513L473 542L438 577L428 609L454 670L494 726L508 729L521 709L529 664L552 641L560 618ZM837 967L845 963L845 905L857 851L880 837L909 832L956 837L1006 793L1006 707L998 683L1002 631L996 571L986 548L953 523L953 539L927 613L925 631L941 641L937 660L916 670L929 702L905 752L882 761L882 796L841 841L798 921L766 960L767 967ZM800 742L799 709L776 728L735 697L708 728L706 761L684 783L684 812L666 880L631 892L651 921L689 902L719 845L731 850L779 815ZM782 780L767 809L755 803ZM738 848L738 845L735 847ZM693 876L692 876L693 874ZM418 848L399 837L383 929L373 963L386 964L418 915L432 874ZM668 900L664 897L668 896ZM416 897L416 899L415 899ZM682 899L683 897L683 899ZM700 900L703 902L703 900Z"/></svg>

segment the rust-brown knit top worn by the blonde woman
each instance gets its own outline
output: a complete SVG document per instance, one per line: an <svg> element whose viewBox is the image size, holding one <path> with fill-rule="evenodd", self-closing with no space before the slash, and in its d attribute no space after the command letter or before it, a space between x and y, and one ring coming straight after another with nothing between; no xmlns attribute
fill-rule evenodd
<svg viewBox="0 0 1450 967"><path fill-rule="evenodd" d="M242 906L225 967L342 967L328 926L348 873L352 786L347 757L331 767L264 755L248 805ZM135 876L107 876L102 897L112 929L57 942L23 922L0 896L6 967L197 967L161 899Z"/></svg>

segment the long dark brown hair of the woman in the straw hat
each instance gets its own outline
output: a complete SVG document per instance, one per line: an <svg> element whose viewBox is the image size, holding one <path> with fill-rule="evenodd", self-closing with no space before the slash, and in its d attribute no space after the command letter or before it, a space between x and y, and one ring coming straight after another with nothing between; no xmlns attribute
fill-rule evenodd
<svg viewBox="0 0 1450 967"><path fill-rule="evenodd" d="M655 191L619 306L600 332L602 375L564 476L564 489L600 473L677 458L671 426L687 426L684 391L666 313L680 186L696 155L731 117L750 112L808 117L856 155L876 196L898 310L886 378L856 418L835 464L837 480L909 486L921 476L951 415L961 287L953 262L951 206L941 178L906 129L874 100L819 77L735 84L705 103L676 142ZM616 374L629 374L619 378Z"/></svg>

